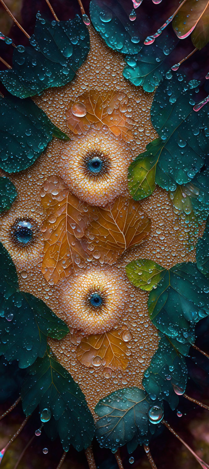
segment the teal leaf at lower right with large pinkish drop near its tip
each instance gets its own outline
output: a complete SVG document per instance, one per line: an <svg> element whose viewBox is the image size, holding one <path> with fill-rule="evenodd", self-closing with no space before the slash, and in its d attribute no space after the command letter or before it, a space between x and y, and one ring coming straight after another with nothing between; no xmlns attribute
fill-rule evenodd
<svg viewBox="0 0 209 469"><path fill-rule="evenodd" d="M185 392L187 385L185 359L165 336L159 341L159 348L144 373L142 384L151 399L164 399L172 410L179 403L178 395Z"/></svg>

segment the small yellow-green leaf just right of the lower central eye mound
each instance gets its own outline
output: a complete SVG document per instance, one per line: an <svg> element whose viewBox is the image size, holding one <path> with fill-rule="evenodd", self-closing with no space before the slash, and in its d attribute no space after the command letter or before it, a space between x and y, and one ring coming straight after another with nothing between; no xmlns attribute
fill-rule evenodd
<svg viewBox="0 0 209 469"><path fill-rule="evenodd" d="M135 287L150 291L164 277L166 269L149 259L137 259L126 265L126 273Z"/></svg>

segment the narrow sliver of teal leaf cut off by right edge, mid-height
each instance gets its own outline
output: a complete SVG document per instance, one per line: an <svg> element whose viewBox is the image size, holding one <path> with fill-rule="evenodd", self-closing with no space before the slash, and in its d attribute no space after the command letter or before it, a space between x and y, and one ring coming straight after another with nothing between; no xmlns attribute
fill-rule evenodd
<svg viewBox="0 0 209 469"><path fill-rule="evenodd" d="M209 219L196 245L197 268L209 279Z"/></svg>

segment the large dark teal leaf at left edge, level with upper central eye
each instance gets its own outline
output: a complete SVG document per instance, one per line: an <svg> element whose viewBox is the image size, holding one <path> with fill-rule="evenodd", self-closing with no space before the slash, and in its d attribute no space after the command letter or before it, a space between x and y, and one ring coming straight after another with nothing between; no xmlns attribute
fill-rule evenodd
<svg viewBox="0 0 209 469"><path fill-rule="evenodd" d="M53 135L66 139L31 99L0 97L0 168L16 173L31 166Z"/></svg>

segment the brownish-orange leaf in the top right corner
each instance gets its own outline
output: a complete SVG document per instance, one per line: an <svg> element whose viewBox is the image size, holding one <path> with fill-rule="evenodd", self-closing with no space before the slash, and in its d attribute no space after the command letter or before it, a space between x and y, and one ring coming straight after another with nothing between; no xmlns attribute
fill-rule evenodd
<svg viewBox="0 0 209 469"><path fill-rule="evenodd" d="M187 0L173 19L173 29L178 38L184 39L191 34L195 26L202 21L202 16L209 8L209 0ZM201 25L198 27L201 34ZM197 33L198 34L198 33Z"/></svg>

